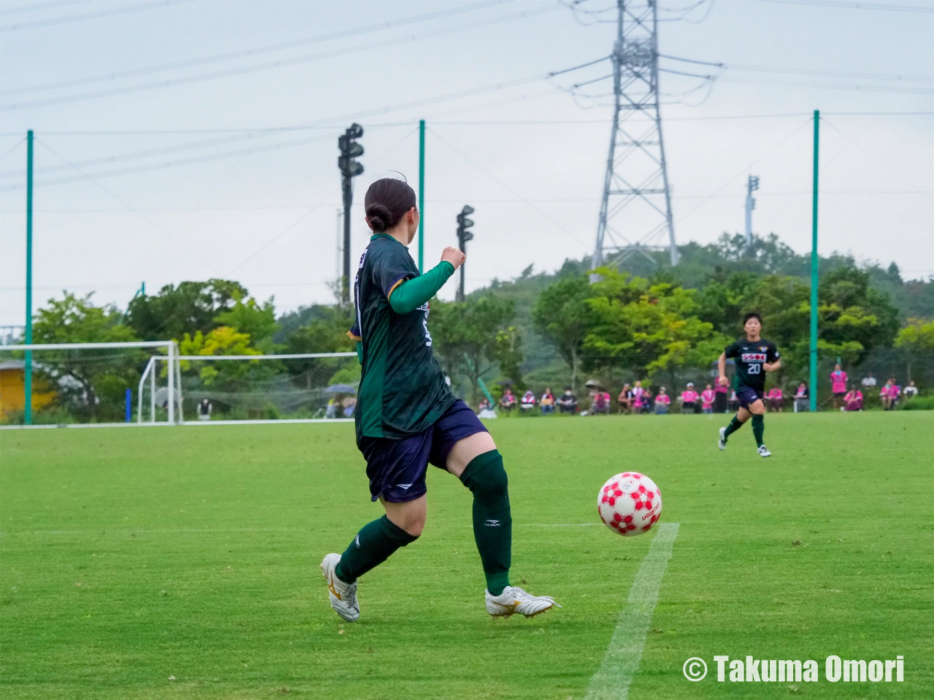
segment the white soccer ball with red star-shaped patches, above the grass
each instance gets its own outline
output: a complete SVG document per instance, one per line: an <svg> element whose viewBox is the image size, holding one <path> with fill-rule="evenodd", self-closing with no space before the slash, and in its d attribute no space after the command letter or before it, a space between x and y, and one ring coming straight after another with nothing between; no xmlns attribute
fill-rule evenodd
<svg viewBox="0 0 934 700"><path fill-rule="evenodd" d="M652 529L661 514L658 486L644 474L624 471L603 484L597 494L597 511L603 525L624 537Z"/></svg>

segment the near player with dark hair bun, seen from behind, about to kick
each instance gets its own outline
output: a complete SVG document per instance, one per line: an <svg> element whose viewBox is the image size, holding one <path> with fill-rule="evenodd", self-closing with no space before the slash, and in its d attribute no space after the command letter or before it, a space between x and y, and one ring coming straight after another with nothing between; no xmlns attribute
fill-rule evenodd
<svg viewBox="0 0 934 700"><path fill-rule="evenodd" d="M362 375L354 419L372 500L386 514L364 525L343 554L321 562L331 607L347 622L360 617L357 579L421 535L429 463L474 493L474 539L487 578L490 615L526 617L557 605L509 585L512 518L506 472L487 428L455 397L432 355L428 301L464 261L446 247L424 274L408 253L418 228L415 192L402 180L377 180L366 192L373 231L354 285Z"/></svg>

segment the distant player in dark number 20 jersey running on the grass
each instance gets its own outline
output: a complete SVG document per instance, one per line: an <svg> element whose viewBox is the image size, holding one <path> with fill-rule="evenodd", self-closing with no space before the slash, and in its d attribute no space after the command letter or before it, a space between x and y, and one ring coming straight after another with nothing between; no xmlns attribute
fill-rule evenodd
<svg viewBox="0 0 934 700"><path fill-rule="evenodd" d="M762 317L757 313L743 316L743 329L746 337L730 344L720 355L717 366L720 370L719 383L722 386L729 384L727 379L727 357L736 360L736 398L740 401L740 408L729 426L720 428L720 449L727 446L729 436L743 427L750 418L753 419L753 435L756 437L758 454L770 457L771 452L762 442L765 432L765 404L762 395L765 391L765 372L775 371L782 366L775 343L763 340L759 333L762 331Z"/></svg>

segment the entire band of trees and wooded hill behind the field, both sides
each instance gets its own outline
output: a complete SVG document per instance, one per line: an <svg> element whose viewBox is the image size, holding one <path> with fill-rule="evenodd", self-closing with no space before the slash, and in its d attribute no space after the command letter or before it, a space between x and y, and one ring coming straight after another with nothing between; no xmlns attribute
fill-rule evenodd
<svg viewBox="0 0 934 700"><path fill-rule="evenodd" d="M556 274L534 274L530 266L516 280L494 281L466 301L433 300L429 328L435 354L460 394L471 399L481 379L491 388L508 382L536 391L565 382L576 387L585 373L609 386L623 379L677 385L709 371L741 332L742 315L756 310L783 354L774 381L788 385L806 376L808 363L804 258L773 236L743 245L726 235L716 245L689 244L677 268L660 260L643 275L603 269L596 284L589 282L586 259L569 260ZM840 256L823 259L822 270L822 357L841 357L853 366L894 348L909 372L930 364L934 306L928 298L934 299L934 283L902 283L897 269L860 268ZM909 315L913 310L917 317ZM237 282L210 279L137 296L125 312L95 306L90 295L65 292L35 316L34 340L175 339L183 354L204 356L344 352L353 349L347 338L352 320L352 310L339 304L314 304L276 318L272 298L258 301ZM69 411L114 420L122 414L124 390L135 387L147 357L72 353L42 371L61 387ZM257 363L191 365L183 367L188 376L196 374L201 385L219 391L262 380L262 372L286 371L309 387L359 379L359 368L320 361L263 363L262 369Z"/></svg>

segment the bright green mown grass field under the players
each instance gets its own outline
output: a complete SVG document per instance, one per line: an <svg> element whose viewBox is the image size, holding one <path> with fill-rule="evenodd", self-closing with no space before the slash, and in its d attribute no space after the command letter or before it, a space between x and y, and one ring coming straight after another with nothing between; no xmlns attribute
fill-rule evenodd
<svg viewBox="0 0 934 700"><path fill-rule="evenodd" d="M381 513L341 425L0 432L0 696L553 698L601 665L654 533L596 521L617 471L680 523L630 698L934 697L934 421L770 415L500 420L513 581L563 609L491 620L469 492L429 474L413 546L330 609L318 563ZM700 656L815 659L817 683L688 682ZM830 683L824 659L902 683ZM170 679L173 677L174 679Z"/></svg>

